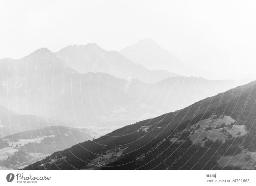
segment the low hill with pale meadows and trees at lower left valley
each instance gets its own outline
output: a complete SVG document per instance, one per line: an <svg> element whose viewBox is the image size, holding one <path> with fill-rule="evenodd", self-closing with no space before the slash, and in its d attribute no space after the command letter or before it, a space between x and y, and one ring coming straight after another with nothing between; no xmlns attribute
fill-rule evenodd
<svg viewBox="0 0 256 186"><path fill-rule="evenodd" d="M0 139L1 170L24 167L55 151L92 140L90 130L48 126L5 136Z"/></svg>

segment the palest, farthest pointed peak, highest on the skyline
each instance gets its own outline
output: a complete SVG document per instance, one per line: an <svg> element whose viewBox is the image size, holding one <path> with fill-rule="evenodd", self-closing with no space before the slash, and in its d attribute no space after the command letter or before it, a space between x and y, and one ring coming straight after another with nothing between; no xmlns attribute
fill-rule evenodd
<svg viewBox="0 0 256 186"><path fill-rule="evenodd" d="M209 77L210 72L197 69L181 62L172 52L164 49L153 39L147 38L125 47L120 51L124 57L148 69L161 69L182 76ZM199 75L200 74L200 75Z"/></svg>

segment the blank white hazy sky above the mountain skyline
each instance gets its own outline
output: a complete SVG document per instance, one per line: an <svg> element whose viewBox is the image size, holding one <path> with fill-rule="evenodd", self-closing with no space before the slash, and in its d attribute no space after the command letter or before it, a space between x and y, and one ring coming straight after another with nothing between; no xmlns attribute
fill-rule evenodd
<svg viewBox="0 0 256 186"><path fill-rule="evenodd" d="M206 0L1 1L0 58L87 43L119 51L150 37L181 61L216 71L215 79L235 78L254 71L255 5Z"/></svg>

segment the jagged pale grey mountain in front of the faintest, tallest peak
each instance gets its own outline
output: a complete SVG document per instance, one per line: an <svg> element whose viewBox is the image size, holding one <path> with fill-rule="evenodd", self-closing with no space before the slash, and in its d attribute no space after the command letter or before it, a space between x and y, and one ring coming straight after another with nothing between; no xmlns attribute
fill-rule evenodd
<svg viewBox="0 0 256 186"><path fill-rule="evenodd" d="M156 83L167 77L179 76L166 70L149 70L119 52L104 50L95 43L68 46L55 54L81 74L100 72L125 80L138 79L145 83Z"/></svg>

